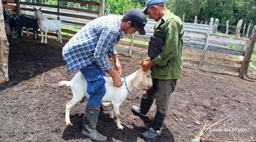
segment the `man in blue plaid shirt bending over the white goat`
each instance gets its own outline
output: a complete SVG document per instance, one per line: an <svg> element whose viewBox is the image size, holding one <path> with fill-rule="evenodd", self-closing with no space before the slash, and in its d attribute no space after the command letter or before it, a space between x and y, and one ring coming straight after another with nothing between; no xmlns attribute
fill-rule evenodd
<svg viewBox="0 0 256 142"><path fill-rule="evenodd" d="M96 130L100 101L106 93L103 76L107 72L112 76L114 86L123 85L121 65L114 45L122 38L122 31L131 34L138 30L140 34L145 34L146 23L147 19L139 9L130 9L123 17L98 17L79 30L63 47L62 56L68 73L79 69L87 81L90 97L84 114L82 135L100 142L107 140ZM114 60L115 70L109 65L106 55Z"/></svg>

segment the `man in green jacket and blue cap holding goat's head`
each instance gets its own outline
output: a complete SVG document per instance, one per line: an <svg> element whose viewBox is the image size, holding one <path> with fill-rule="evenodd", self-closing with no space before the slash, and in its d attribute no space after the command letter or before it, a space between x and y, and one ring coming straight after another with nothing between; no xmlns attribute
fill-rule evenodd
<svg viewBox="0 0 256 142"><path fill-rule="evenodd" d="M165 6L165 0L147 0L143 13L149 15L157 24L154 26L156 36L165 39L162 52L154 59L142 60L144 70L152 67L153 86L142 95L140 108L133 105L133 114L148 117L147 113L156 99L156 114L150 130L141 134L144 139L151 139L161 134L161 127L169 107L169 99L177 80L182 74L182 35L184 28L181 19L171 13Z"/></svg>

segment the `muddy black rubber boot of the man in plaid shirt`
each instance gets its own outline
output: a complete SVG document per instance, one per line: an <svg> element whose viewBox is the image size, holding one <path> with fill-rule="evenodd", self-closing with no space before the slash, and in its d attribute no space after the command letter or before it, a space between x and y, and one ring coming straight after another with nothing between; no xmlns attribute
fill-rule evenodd
<svg viewBox="0 0 256 142"><path fill-rule="evenodd" d="M100 134L97 129L98 116L100 112L100 106L89 106L85 110L82 135L91 138L91 140L97 142L105 142L107 137Z"/></svg>

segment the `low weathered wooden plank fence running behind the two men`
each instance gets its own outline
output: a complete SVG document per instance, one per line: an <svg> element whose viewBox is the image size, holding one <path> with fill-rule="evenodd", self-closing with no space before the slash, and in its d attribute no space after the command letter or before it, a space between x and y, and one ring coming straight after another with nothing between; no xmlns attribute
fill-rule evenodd
<svg viewBox="0 0 256 142"><path fill-rule="evenodd" d="M243 78L243 76L245 75L245 71L248 68L248 66L246 66L246 65L247 64L249 65L248 62L251 61L250 58L251 58L252 52L247 52L247 51L253 51L254 44L255 44L255 37L256 37L256 26L254 27L252 34L248 40L248 39L234 38L234 37L230 37L230 36L226 36L226 35L213 34L210 32L212 29L212 27L211 27L212 25L213 25L213 19L210 20L209 29L208 29L207 33L187 31L185 29L183 37L204 40L205 43L204 43L204 45L202 45L202 44L184 42L183 43L184 48L199 49L199 50L203 50L203 51L202 51L202 54L191 54L191 53L183 52L182 53L183 56L200 58L200 61L184 59L183 64L197 66L198 69L201 69L202 67L206 67L206 68L210 68L210 69L239 73L239 77ZM123 34L123 37L132 39L132 42L133 42L133 40L150 41L150 37L136 35L136 34L130 34L130 35ZM242 47L247 44L248 45L247 45L247 50L244 51L244 50L239 50L239 49L208 46L209 41L214 41L217 43L238 45L238 46L242 46ZM124 47L118 47L118 46L115 46L115 49L118 52L124 52L126 54L129 54L129 56L131 56L131 54L136 55L136 56L147 56L146 52L141 52L141 51L135 50L135 49L133 49L133 47L148 49L148 46L141 45L141 44L134 44L132 42L126 42L126 41L119 42L120 44L130 45L130 49L124 48ZM237 56L244 56L245 59L243 61L237 61L237 60L226 59L226 58L205 56L206 51L218 52L218 53L230 54L230 55L237 55ZM234 64L241 65L241 67L233 67L233 66L228 66L228 65L220 65L220 64L210 63L210 62L204 62L204 60L213 60L213 61L224 62L224 63L234 63Z"/></svg>

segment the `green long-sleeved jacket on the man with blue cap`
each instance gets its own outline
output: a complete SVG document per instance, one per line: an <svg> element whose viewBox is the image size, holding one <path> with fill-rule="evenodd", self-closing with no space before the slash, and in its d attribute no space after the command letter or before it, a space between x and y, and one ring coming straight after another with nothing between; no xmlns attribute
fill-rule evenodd
<svg viewBox="0 0 256 142"><path fill-rule="evenodd" d="M157 65L153 66L152 77L162 80L180 78L183 65L182 35L184 34L181 19L167 10L156 23L154 30L158 31L156 35L165 39L165 45L162 52L154 58Z"/></svg>

